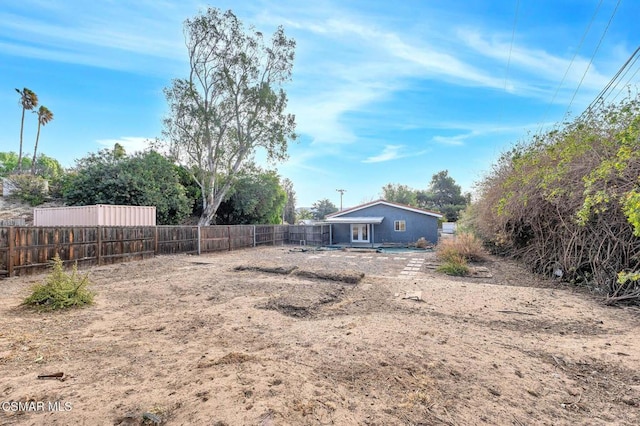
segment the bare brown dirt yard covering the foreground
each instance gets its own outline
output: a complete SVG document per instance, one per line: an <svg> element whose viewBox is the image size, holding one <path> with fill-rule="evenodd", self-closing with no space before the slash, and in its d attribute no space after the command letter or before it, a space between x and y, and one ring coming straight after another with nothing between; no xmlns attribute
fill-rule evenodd
<svg viewBox="0 0 640 426"><path fill-rule="evenodd" d="M0 281L0 424L640 424L636 308L433 261L157 257L89 269L95 305L58 313L19 306L43 275Z"/></svg>

